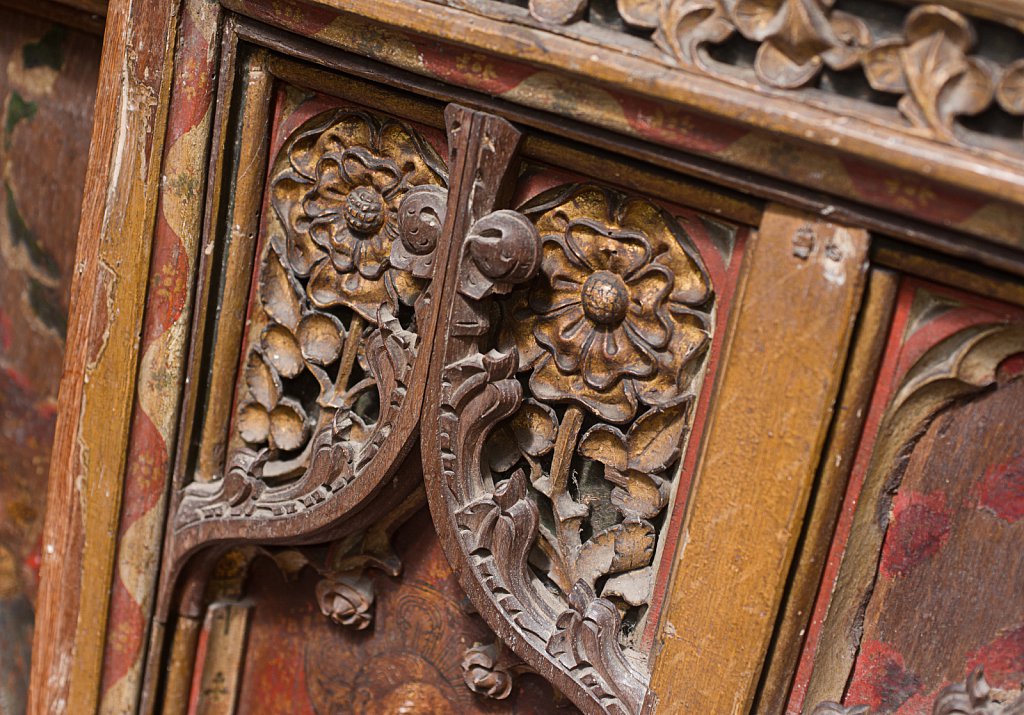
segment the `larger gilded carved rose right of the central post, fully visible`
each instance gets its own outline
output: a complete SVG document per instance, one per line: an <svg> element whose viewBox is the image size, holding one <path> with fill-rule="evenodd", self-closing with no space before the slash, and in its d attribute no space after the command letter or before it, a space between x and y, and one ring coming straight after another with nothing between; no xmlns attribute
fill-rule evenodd
<svg viewBox="0 0 1024 715"><path fill-rule="evenodd" d="M615 423L634 417L638 399L672 402L707 338L693 307L711 295L674 219L649 202L583 187L536 220L541 277L507 324L520 369L534 369L534 394Z"/></svg>

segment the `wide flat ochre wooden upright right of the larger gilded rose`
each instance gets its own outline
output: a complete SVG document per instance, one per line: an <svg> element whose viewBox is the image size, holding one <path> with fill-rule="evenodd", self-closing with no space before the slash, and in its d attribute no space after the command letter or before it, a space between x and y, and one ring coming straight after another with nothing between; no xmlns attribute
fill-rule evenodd
<svg viewBox="0 0 1024 715"><path fill-rule="evenodd" d="M772 206L746 249L649 711L751 705L846 364L867 244L862 230Z"/></svg>

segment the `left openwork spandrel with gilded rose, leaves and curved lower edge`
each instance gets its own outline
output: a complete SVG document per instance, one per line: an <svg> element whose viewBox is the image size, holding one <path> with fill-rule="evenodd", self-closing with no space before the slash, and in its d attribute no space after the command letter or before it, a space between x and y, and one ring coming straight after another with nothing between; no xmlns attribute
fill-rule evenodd
<svg viewBox="0 0 1024 715"><path fill-rule="evenodd" d="M396 120L328 112L286 142L225 478L187 488L179 525L309 508L372 460L416 361L446 185Z"/></svg>

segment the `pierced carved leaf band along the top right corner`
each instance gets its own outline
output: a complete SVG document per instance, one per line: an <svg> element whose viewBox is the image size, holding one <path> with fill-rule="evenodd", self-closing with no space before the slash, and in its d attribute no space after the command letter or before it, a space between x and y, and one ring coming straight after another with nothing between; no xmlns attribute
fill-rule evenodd
<svg viewBox="0 0 1024 715"><path fill-rule="evenodd" d="M979 39L978 20L957 10L892 4L890 13L858 13L855 3L840 9L836 0L618 0L609 17L606 9L589 9L588 0L530 0L529 13L556 32L579 20L628 30L648 37L679 67L742 85L842 94L873 121L885 121L883 97L894 95L914 132L944 142L1024 148L1020 119L1006 133L1013 118L1024 117L1019 25L1008 19L987 42ZM994 26L982 27L993 32ZM826 70L834 77L822 80ZM859 81L851 83L854 75ZM1000 113L999 121L958 126L961 118Z"/></svg>

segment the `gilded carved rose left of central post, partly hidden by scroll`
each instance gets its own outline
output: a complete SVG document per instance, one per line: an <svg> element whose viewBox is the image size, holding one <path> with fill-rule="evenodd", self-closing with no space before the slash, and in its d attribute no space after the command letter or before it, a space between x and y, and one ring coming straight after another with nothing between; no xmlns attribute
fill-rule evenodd
<svg viewBox="0 0 1024 715"><path fill-rule="evenodd" d="M374 323L380 305L411 302L418 287L389 270L391 247L406 195L445 182L434 150L402 123L341 111L299 132L287 156L272 203L312 303L346 305Z"/></svg>

